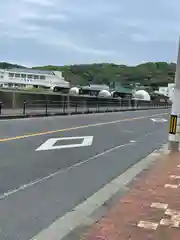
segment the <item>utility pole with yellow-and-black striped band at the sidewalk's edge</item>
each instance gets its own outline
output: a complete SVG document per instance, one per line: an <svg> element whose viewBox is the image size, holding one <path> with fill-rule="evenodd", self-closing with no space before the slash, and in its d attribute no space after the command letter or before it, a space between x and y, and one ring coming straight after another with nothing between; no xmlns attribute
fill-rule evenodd
<svg viewBox="0 0 180 240"><path fill-rule="evenodd" d="M173 152L178 152L179 143L180 143L180 39L178 45L174 95L172 97L172 109L169 127L169 149Z"/></svg>

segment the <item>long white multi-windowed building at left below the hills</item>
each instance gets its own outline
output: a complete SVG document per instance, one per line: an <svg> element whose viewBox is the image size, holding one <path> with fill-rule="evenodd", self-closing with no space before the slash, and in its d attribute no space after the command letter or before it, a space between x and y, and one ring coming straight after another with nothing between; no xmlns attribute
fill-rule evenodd
<svg viewBox="0 0 180 240"><path fill-rule="evenodd" d="M69 88L60 71L45 71L29 68L0 69L0 87L4 88Z"/></svg>

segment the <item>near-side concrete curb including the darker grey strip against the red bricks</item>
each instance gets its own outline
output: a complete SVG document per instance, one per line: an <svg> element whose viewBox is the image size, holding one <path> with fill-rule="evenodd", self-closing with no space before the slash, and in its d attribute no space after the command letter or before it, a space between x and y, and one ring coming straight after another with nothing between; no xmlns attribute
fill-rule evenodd
<svg viewBox="0 0 180 240"><path fill-rule="evenodd" d="M128 168L123 174L99 189L70 212L57 219L31 240L49 240L52 238L54 240L79 240L80 236L107 212L117 197L119 198L127 193L129 190L128 185L163 154L169 154L168 144L163 145L160 149L156 149L147 157Z"/></svg>

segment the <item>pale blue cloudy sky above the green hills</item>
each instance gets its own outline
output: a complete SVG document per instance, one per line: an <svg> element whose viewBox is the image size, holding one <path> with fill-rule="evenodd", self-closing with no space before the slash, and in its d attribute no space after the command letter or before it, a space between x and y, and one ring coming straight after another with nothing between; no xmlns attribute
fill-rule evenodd
<svg viewBox="0 0 180 240"><path fill-rule="evenodd" d="M0 61L176 61L179 0L2 0L0 10Z"/></svg>

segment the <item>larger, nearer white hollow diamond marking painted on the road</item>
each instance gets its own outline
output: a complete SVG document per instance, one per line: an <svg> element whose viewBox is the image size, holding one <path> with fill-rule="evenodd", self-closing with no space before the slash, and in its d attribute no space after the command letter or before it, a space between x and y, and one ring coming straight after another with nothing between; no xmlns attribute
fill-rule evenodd
<svg viewBox="0 0 180 240"><path fill-rule="evenodd" d="M77 144L63 144L63 145L56 145L54 144L57 141L63 140L79 140L82 139L81 143ZM76 148L76 147L87 147L92 145L93 136L83 136L83 137L63 137L63 138L50 138L45 143L43 143L36 151L44 151L44 150L55 150L55 149L65 149L65 148Z"/></svg>

